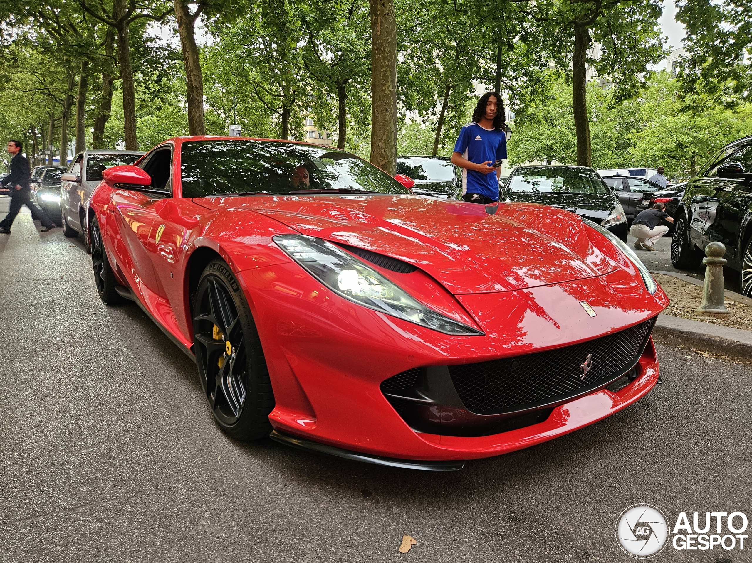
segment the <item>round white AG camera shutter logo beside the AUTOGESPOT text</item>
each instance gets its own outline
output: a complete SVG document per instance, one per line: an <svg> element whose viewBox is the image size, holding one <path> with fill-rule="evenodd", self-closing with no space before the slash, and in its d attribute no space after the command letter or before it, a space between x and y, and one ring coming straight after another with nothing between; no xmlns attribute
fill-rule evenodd
<svg viewBox="0 0 752 563"><path fill-rule="evenodd" d="M634 504L616 522L616 539L627 555L647 559L658 555L669 538L669 525L660 508Z"/></svg>

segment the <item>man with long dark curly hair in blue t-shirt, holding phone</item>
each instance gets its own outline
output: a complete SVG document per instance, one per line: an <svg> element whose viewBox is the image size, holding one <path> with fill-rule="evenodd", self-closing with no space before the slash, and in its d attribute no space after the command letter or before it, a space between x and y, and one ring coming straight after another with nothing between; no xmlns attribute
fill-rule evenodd
<svg viewBox="0 0 752 563"><path fill-rule="evenodd" d="M472 123L459 132L452 153L452 164L462 168L465 201L481 204L499 201L501 161L507 158L504 125L502 96L498 92L485 93L475 106Z"/></svg>

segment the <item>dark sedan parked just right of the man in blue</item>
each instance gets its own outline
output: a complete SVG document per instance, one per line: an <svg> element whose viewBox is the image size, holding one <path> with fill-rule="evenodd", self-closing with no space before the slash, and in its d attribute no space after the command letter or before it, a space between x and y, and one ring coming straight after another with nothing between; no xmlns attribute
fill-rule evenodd
<svg viewBox="0 0 752 563"><path fill-rule="evenodd" d="M560 207L598 223L626 241L624 210L593 168L518 166L502 188L500 199Z"/></svg>

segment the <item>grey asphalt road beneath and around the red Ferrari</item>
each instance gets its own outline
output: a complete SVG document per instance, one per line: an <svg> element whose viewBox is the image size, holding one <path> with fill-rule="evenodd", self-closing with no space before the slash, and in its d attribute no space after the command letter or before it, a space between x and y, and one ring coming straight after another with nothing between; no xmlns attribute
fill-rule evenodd
<svg viewBox="0 0 752 563"><path fill-rule="evenodd" d="M0 561L631 561L632 504L752 516L750 366L659 346L637 404L453 473L240 444L190 359L99 301L82 241L38 229L23 210L0 235Z"/></svg>

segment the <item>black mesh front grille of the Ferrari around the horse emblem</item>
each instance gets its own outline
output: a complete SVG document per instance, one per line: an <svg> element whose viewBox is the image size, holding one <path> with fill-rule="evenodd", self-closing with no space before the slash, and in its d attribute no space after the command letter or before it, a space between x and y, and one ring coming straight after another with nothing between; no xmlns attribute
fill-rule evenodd
<svg viewBox="0 0 752 563"><path fill-rule="evenodd" d="M473 413L511 413L551 404L597 389L629 370L639 359L654 324L655 318L548 352L450 365L449 373L459 398ZM593 354L593 366L581 380L580 366L588 354Z"/></svg>

